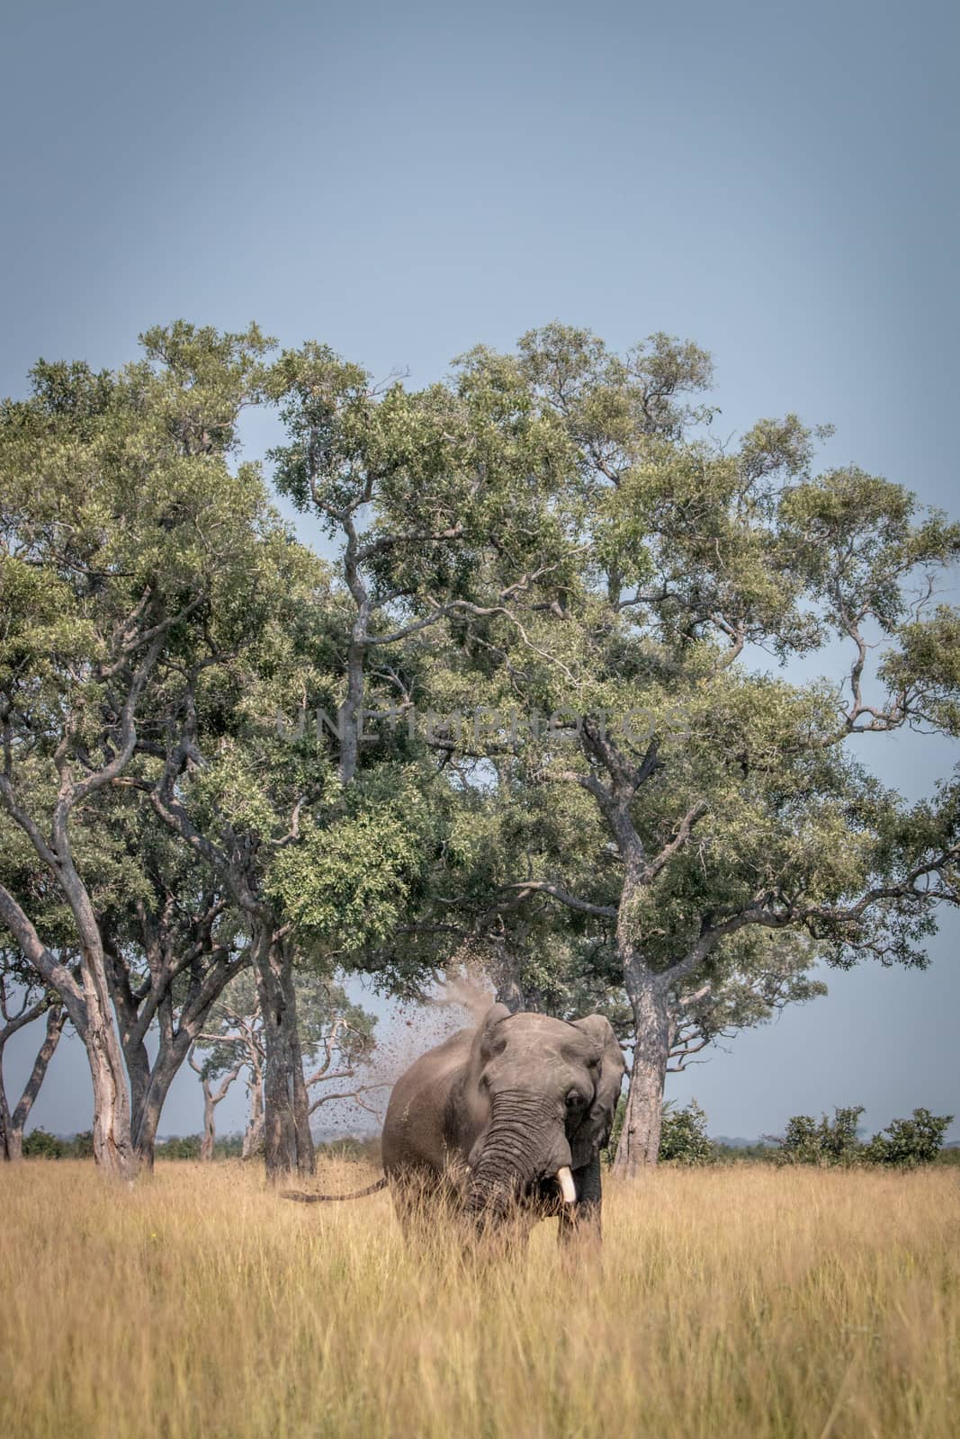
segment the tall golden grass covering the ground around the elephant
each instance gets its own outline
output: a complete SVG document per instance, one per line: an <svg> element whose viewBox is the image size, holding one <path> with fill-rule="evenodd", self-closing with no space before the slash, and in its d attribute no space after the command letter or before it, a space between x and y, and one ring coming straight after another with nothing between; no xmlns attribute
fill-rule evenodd
<svg viewBox="0 0 960 1439"><path fill-rule="evenodd" d="M957 1433L956 1171L607 1186L602 1271L556 1222L465 1271L386 1194L289 1204L240 1164L27 1161L0 1212L3 1435Z"/></svg>

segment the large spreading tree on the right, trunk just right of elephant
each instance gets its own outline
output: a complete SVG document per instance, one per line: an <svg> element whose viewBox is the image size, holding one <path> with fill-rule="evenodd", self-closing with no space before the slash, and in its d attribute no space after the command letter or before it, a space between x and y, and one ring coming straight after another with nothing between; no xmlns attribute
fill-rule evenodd
<svg viewBox="0 0 960 1439"><path fill-rule="evenodd" d="M800 935L835 964L923 964L937 907L957 902L957 786L910 806L851 741L959 731L960 619L930 597L960 527L855 468L813 473L822 432L794 416L712 443L710 410L688 403L710 376L664 335L626 358L563 327L515 357L472 353L456 401L498 443L465 504L494 486L502 528L468 551L466 599L390 570L407 635L445 620L448 702L499 715L484 744L462 725L446 740L474 816L497 755L511 790L520 862L498 872L507 848L479 865L481 928L553 904L615 945L635 1038L625 1174L655 1161L671 1045L691 1007L723 1014L744 935ZM522 475L494 478L517 436ZM390 515L416 504L400 479ZM376 512L376 486L364 495ZM888 649L871 668L875 637ZM747 663L835 663L839 645L849 661L806 685ZM443 928L450 909L432 918Z"/></svg>

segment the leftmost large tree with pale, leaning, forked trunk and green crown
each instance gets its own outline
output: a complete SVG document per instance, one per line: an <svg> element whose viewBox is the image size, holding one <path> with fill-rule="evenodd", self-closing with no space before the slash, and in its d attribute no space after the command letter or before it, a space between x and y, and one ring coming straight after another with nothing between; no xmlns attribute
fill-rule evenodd
<svg viewBox="0 0 960 1439"><path fill-rule="evenodd" d="M258 393L259 331L174 325L144 350L117 374L40 361L30 399L0 409L0 819L69 909L78 974L6 882L0 922L85 1045L96 1161L125 1177L138 1157L91 892L94 817L155 750L142 715L161 661L174 669L212 630L242 640L240 597L279 538L256 471L227 465Z"/></svg>

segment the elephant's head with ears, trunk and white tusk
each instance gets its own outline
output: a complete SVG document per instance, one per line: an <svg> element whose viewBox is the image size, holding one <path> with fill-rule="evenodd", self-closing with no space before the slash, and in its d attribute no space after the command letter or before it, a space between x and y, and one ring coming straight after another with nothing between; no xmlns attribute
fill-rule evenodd
<svg viewBox="0 0 960 1439"><path fill-rule="evenodd" d="M481 1127L469 1154L469 1210L498 1217L551 1179L571 1203L571 1170L590 1164L606 1143L623 1068L600 1014L566 1023L494 1004L476 1030L466 1079Z"/></svg>

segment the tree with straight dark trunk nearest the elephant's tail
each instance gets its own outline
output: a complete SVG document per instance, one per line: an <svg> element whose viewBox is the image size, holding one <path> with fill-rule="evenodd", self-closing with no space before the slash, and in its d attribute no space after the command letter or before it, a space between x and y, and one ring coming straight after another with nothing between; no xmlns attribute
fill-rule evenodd
<svg viewBox="0 0 960 1439"><path fill-rule="evenodd" d="M309 849L312 814L337 799L322 747L288 743L275 720L322 656L322 567L285 537L271 580L243 610L249 633L250 610L262 609L256 643L164 673L154 696L163 761L130 783L216 876L248 937L263 1016L265 1157L276 1177L312 1173L314 1148L294 979L298 915L285 912L275 866L286 850Z"/></svg>

